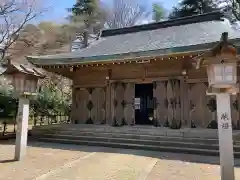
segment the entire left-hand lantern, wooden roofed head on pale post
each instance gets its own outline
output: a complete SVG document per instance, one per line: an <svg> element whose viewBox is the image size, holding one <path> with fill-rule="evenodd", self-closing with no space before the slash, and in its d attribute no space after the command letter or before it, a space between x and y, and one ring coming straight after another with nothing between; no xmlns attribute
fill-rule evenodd
<svg viewBox="0 0 240 180"><path fill-rule="evenodd" d="M36 95L39 78L45 76L30 65L12 63L10 60L3 65L3 73L11 79L14 94L19 98L17 114L17 132L15 145L15 160L21 160L26 153L28 118L29 118L29 99Z"/></svg>

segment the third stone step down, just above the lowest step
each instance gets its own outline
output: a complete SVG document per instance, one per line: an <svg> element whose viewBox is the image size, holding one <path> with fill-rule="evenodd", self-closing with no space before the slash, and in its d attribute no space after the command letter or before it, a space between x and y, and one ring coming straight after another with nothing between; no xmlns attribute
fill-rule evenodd
<svg viewBox="0 0 240 180"><path fill-rule="evenodd" d="M196 149L212 149L218 150L218 144L205 144L196 142L184 142L184 141L172 141L166 140L146 140L146 139L131 139L131 138L114 138L114 137L102 137L100 136L75 136L75 135L62 135L62 134L46 134L44 138L56 138L56 139L69 139L69 140L81 140L81 141L98 141L98 142L113 142L120 144L142 144L142 145L153 145L153 146L165 146L165 147L188 147ZM240 152L240 146L235 147L235 151Z"/></svg>

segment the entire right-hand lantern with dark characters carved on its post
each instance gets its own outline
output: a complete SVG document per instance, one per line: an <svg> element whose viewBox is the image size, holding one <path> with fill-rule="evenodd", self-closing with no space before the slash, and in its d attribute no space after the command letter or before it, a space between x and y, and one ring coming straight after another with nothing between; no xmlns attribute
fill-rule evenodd
<svg viewBox="0 0 240 180"><path fill-rule="evenodd" d="M216 95L221 179L234 180L234 158L230 95L239 92L237 50L222 33L220 42L210 51L195 58L196 68L206 68L207 95Z"/></svg>

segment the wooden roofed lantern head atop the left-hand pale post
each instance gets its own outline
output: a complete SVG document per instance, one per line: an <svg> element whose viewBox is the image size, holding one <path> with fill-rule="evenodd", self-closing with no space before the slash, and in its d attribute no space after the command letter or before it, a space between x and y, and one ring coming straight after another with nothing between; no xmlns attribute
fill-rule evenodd
<svg viewBox="0 0 240 180"><path fill-rule="evenodd" d="M31 65L13 63L10 60L3 65L3 68L2 75L11 79L14 92L18 96L35 95L38 89L38 79L45 77L39 69Z"/></svg>

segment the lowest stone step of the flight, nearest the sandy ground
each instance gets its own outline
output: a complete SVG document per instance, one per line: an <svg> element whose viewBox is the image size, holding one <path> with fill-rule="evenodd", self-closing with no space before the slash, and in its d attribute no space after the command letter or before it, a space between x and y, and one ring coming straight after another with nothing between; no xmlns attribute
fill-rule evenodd
<svg viewBox="0 0 240 180"><path fill-rule="evenodd" d="M56 139L56 138L39 138L38 140L42 142L51 142L51 143L102 146L102 147L111 147L111 148L125 148L125 149L138 149L138 150L151 150L151 151L172 152L172 153L219 156L218 150L196 149L196 148L187 148L187 147L165 147L161 145L154 146L154 145L142 145L142 144L127 144L127 143L114 143L114 142L101 142L101 141L73 140L73 139L69 140L69 139ZM234 152L234 157L240 158L240 153Z"/></svg>

